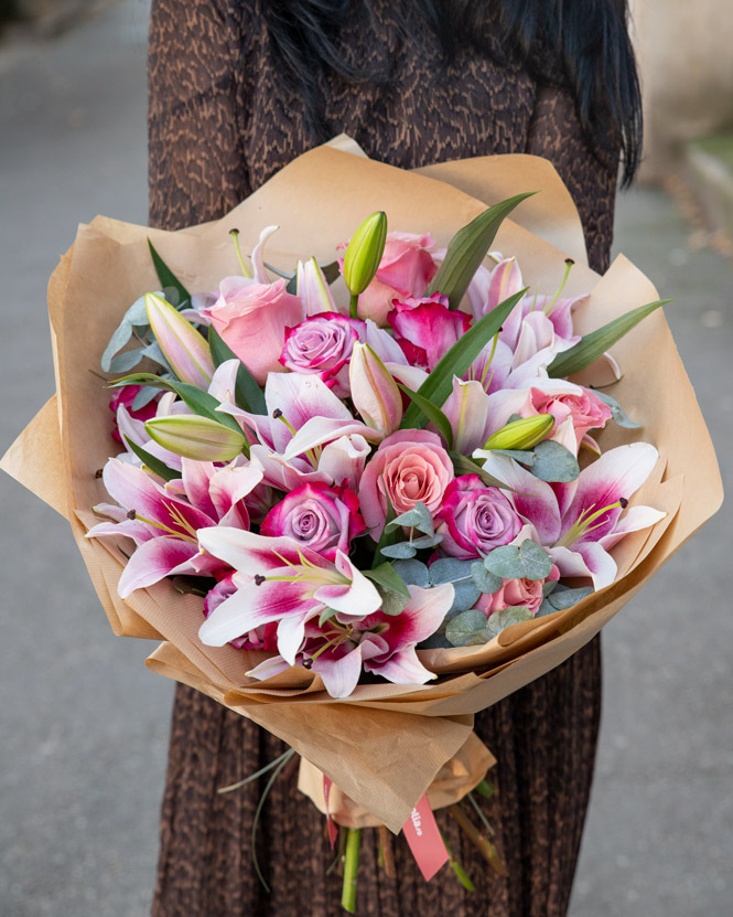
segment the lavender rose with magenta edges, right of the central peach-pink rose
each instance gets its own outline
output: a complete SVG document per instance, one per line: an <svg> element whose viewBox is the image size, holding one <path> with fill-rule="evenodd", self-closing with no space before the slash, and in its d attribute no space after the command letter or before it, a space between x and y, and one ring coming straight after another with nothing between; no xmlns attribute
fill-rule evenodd
<svg viewBox="0 0 733 917"><path fill-rule="evenodd" d="M462 475L448 486L438 520L441 548L462 561L509 544L522 525L502 491L486 487L478 475Z"/></svg>

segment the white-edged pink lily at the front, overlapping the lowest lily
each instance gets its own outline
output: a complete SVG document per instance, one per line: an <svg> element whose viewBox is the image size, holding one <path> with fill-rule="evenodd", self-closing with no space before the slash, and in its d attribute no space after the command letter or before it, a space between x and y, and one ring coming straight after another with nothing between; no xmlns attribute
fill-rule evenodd
<svg viewBox="0 0 733 917"><path fill-rule="evenodd" d="M289 537L269 539L217 526L198 532L201 546L234 567L237 591L222 603L198 631L208 647L223 647L262 625L278 621L278 650L289 665L305 635L305 623L326 608L352 621L381 607L375 585L342 552L327 561Z"/></svg>

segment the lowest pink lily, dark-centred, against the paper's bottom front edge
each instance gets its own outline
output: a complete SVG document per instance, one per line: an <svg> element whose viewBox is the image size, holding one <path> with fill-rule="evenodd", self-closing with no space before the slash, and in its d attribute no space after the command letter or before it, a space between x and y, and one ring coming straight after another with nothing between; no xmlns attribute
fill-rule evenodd
<svg viewBox="0 0 733 917"><path fill-rule="evenodd" d="M358 683L362 668L396 684L424 684L434 679L418 659L416 647L443 622L453 604L453 586L449 583L432 589L408 589L410 600L400 615L377 611L357 621L335 615L323 625L309 620L294 664L317 672L332 697L347 697ZM288 665L279 655L247 674L271 678Z"/></svg>

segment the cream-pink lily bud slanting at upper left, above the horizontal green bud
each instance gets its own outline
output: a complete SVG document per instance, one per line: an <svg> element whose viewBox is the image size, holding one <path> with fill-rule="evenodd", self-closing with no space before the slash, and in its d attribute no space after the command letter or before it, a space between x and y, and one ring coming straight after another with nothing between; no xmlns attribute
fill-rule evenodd
<svg viewBox="0 0 733 917"><path fill-rule="evenodd" d="M145 309L155 340L176 376L197 388L208 388L214 363L204 335L170 302L153 292L145 295Z"/></svg>

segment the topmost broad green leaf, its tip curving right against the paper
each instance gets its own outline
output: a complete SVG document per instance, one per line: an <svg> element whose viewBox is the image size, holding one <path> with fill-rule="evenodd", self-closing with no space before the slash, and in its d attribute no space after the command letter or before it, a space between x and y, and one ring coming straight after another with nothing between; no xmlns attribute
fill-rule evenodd
<svg viewBox="0 0 733 917"><path fill-rule="evenodd" d="M443 264L433 277L428 295L441 292L448 296L451 309L457 309L504 218L536 193L529 191L500 201L459 230L449 243Z"/></svg>

